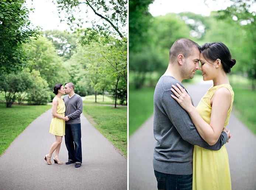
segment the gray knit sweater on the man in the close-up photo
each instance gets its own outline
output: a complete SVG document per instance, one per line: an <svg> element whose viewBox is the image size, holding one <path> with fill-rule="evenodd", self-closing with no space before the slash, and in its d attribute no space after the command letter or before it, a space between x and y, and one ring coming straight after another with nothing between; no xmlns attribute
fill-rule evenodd
<svg viewBox="0 0 256 190"><path fill-rule="evenodd" d="M222 132L215 145L208 145L198 134L188 113L171 96L171 76L160 77L154 94L154 136L156 139L153 168L174 175L192 174L193 145L218 150L228 136ZM183 87L184 88L184 87Z"/></svg>

